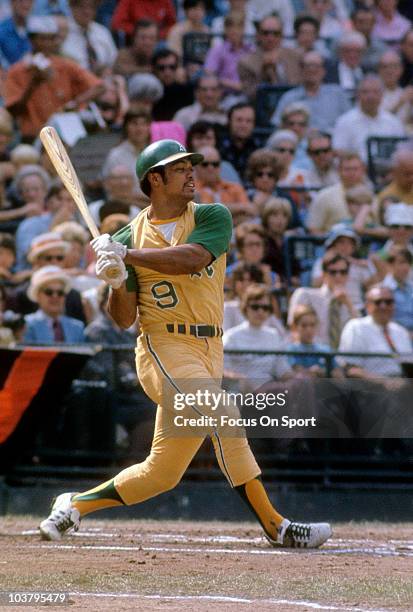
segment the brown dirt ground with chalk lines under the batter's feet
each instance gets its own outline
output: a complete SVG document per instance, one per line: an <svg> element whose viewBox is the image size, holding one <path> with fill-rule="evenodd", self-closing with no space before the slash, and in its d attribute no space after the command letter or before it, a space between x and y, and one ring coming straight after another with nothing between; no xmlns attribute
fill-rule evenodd
<svg viewBox="0 0 413 612"><path fill-rule="evenodd" d="M0 591L64 592L93 611L413 609L411 524L336 525L320 550L287 551L253 523L85 519L61 543L37 523L2 519Z"/></svg>

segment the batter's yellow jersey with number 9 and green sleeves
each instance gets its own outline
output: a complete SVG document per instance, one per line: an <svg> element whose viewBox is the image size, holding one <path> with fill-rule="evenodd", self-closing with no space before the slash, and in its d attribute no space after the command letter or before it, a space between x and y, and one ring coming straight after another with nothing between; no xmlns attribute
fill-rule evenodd
<svg viewBox="0 0 413 612"><path fill-rule="evenodd" d="M162 224L176 222L170 242ZM142 330L159 323L221 325L226 251L232 233L232 217L221 204L189 202L176 219L154 222L148 209L142 210L113 239L130 249L162 249L179 244L200 244L211 253L211 264L193 274L167 275L140 266L128 265L126 286L138 292Z"/></svg>

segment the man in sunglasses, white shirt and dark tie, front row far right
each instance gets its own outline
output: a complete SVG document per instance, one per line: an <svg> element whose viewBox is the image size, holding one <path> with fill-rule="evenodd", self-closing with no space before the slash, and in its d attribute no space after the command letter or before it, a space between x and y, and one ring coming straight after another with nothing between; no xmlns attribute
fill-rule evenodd
<svg viewBox="0 0 413 612"><path fill-rule="evenodd" d="M413 351L410 334L393 318L394 296L388 287L372 287L366 295L367 316L349 321L341 334L339 350L348 353L398 353ZM401 376L398 360L393 357L345 357L348 377L377 379Z"/></svg>

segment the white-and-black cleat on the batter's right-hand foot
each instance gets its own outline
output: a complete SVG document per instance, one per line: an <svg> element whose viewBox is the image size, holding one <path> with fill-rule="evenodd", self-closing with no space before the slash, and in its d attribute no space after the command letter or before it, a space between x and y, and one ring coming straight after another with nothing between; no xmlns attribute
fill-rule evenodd
<svg viewBox="0 0 413 612"><path fill-rule="evenodd" d="M282 548L318 548L331 537L328 523L292 523L284 519L278 528L277 539L267 534L265 537L272 546Z"/></svg>

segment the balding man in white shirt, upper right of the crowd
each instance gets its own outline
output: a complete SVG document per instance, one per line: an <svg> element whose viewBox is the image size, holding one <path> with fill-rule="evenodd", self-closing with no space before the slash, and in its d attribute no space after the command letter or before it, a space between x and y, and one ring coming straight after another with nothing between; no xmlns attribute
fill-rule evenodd
<svg viewBox="0 0 413 612"><path fill-rule="evenodd" d="M357 151L367 160L370 136L404 136L400 119L380 110L383 83L375 75L366 76L357 89L358 104L342 115L334 128L333 146L338 151Z"/></svg>

